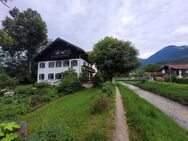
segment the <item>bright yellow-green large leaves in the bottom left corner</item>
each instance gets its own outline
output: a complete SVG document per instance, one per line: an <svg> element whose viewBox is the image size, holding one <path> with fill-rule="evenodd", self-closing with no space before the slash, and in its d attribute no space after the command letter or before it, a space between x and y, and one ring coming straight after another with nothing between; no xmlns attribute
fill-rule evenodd
<svg viewBox="0 0 188 141"><path fill-rule="evenodd" d="M16 122L8 122L0 124L0 140L14 141L19 134L16 132L20 125Z"/></svg>

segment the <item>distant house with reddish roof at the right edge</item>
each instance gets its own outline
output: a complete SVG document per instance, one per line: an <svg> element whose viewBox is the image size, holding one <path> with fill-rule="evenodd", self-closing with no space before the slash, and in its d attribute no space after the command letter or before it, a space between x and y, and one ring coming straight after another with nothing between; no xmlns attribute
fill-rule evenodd
<svg viewBox="0 0 188 141"><path fill-rule="evenodd" d="M176 74L178 78L188 77L188 64L166 65L161 70L163 74Z"/></svg>

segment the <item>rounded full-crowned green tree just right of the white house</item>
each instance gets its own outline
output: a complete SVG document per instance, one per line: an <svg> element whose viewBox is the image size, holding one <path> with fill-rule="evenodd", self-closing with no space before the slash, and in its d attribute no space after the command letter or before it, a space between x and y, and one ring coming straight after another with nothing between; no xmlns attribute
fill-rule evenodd
<svg viewBox="0 0 188 141"><path fill-rule="evenodd" d="M138 51L129 41L105 37L94 45L91 60L105 80L115 75L127 75L138 66Z"/></svg>

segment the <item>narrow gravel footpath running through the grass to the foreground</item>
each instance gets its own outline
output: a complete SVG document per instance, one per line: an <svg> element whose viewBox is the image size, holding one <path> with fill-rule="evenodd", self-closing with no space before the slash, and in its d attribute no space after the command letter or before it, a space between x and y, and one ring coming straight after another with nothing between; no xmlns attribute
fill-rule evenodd
<svg viewBox="0 0 188 141"><path fill-rule="evenodd" d="M116 87L116 117L114 141L129 141L128 125L119 89Z"/></svg>

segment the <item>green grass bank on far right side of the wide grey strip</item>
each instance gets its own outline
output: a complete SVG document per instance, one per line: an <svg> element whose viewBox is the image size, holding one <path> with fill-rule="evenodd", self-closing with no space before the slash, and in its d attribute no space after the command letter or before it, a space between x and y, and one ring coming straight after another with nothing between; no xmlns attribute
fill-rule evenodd
<svg viewBox="0 0 188 141"><path fill-rule="evenodd" d="M140 81L127 81L130 84L138 86L142 89L151 91L158 95L172 99L184 105L188 105L188 85L167 83L167 82L150 82L144 83Z"/></svg>

